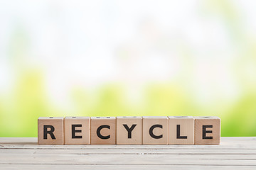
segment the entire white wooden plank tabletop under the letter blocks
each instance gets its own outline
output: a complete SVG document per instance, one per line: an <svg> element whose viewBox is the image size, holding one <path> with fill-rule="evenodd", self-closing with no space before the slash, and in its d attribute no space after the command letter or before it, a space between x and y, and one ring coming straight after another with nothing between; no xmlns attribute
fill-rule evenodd
<svg viewBox="0 0 256 170"><path fill-rule="evenodd" d="M256 137L220 145L37 145L0 138L0 169L256 169Z"/></svg>

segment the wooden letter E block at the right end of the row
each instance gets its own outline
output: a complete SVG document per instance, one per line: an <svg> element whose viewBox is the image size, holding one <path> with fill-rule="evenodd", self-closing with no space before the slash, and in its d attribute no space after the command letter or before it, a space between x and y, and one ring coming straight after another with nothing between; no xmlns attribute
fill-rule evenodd
<svg viewBox="0 0 256 170"><path fill-rule="evenodd" d="M220 144L220 118L215 116L195 118L195 144Z"/></svg>

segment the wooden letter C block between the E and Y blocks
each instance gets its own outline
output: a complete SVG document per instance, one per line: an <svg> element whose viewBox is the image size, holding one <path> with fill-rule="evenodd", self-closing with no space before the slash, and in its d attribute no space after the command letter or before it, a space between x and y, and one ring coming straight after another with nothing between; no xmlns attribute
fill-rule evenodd
<svg viewBox="0 0 256 170"><path fill-rule="evenodd" d="M116 143L116 118L92 117L91 118L91 144Z"/></svg>

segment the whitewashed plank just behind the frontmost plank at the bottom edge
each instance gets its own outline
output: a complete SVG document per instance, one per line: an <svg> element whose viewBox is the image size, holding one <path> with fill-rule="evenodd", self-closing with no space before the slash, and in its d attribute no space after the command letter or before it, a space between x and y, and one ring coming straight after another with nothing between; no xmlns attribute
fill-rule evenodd
<svg viewBox="0 0 256 170"><path fill-rule="evenodd" d="M242 154L0 154L0 164L102 164L102 165L229 165L256 166L255 155Z"/></svg>

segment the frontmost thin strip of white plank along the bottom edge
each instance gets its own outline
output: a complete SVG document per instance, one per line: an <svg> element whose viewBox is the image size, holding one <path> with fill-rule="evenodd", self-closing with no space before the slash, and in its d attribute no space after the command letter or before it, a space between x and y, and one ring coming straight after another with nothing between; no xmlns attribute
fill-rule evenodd
<svg viewBox="0 0 256 170"><path fill-rule="evenodd" d="M46 170L46 169L62 169L62 170L102 170L102 169L141 169L141 170L159 170L159 169L176 169L176 170L187 170L187 169L196 169L196 170L223 170L223 169L232 169L232 170L255 170L256 166L204 166L204 165L58 165L55 164L0 164L0 169L26 169L26 170Z"/></svg>

